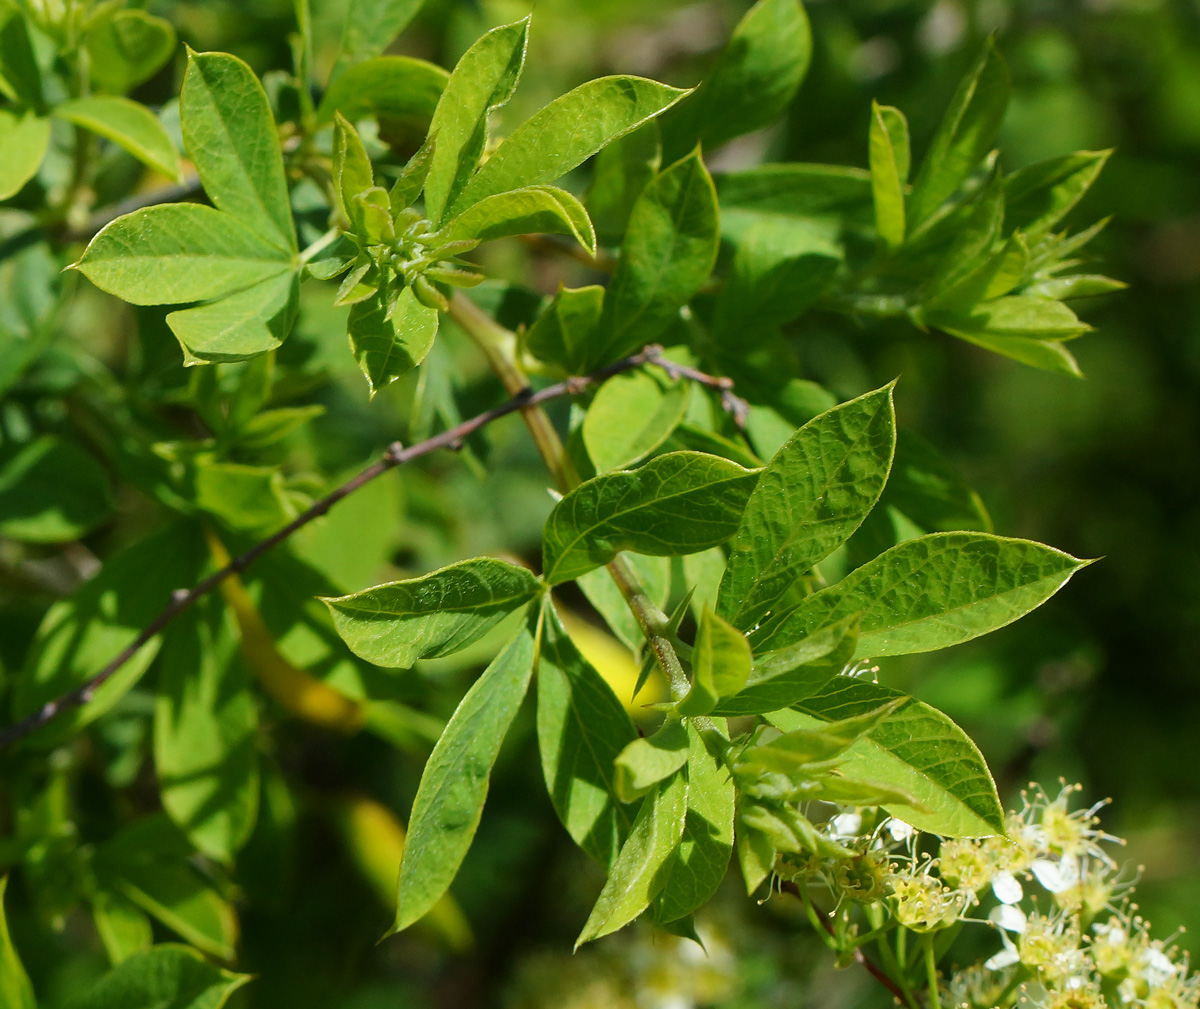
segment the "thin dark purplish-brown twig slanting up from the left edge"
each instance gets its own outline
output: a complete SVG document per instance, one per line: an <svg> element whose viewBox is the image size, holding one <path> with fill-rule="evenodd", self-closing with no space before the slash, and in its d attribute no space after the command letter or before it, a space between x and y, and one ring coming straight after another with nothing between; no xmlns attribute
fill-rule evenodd
<svg viewBox="0 0 1200 1009"><path fill-rule="evenodd" d="M228 578L230 575L239 575L245 571L251 564L253 564L259 557L266 553L272 547L283 542L298 529L302 529L314 518L319 518L325 515L335 504L337 504L343 498L349 497L360 487L370 484L377 476L386 473L389 469L395 469L397 466L403 466L407 462L412 462L415 458L426 456L430 452L437 451L438 449L450 449L456 450L461 448L463 439L474 434L482 427L486 427L494 420L499 420L503 416L508 416L517 410L528 412L530 408L538 407L541 403L550 402L551 400L558 400L564 396L575 396L583 392L592 385L604 382L614 374L620 374L622 372L632 371L634 368L641 367L643 365L656 365L659 367L665 366L662 359L662 348L656 344L650 344L643 348L640 353L632 354L629 358L623 358L619 361L614 361L606 367L599 368L588 376L572 377L564 379L563 382L556 383L554 385L547 385L545 389L534 391L533 389L526 386L512 396L508 402L502 403L499 407L493 407L490 410L484 410L481 414L476 414L470 420L466 420L457 427L451 427L448 431L443 431L440 434L436 434L432 438L420 442L409 448L403 448L398 442L394 443L383 455L383 457L373 463L372 466L364 469L358 476L343 484L337 490L326 494L319 502L317 502L312 507L305 511L302 515L292 519L287 525L280 529L271 536L268 536L262 542L256 543L245 553L235 557L224 567L209 575L204 581L193 585L191 589L179 589L172 594L170 602L167 607L157 615L154 620L148 624L143 631L115 657L112 662L104 666L95 677L92 677L86 683L72 690L70 693L64 693L61 697L54 701L48 701L31 715L22 719L7 728L0 731L0 750L11 746L20 739L24 739L32 732L36 732L42 726L47 725L49 721L55 719L64 711L71 710L73 708L82 707L95 697L96 691L107 683L113 674L121 668L126 662L132 659L138 650L146 644L151 638L160 633L172 620L174 620L180 613L187 609L193 602L204 595L212 591L221 582Z"/></svg>

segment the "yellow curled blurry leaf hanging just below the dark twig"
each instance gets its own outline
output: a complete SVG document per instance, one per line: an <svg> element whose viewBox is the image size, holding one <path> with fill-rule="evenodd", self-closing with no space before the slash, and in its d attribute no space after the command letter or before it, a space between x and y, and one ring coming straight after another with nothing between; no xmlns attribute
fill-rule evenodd
<svg viewBox="0 0 1200 1009"><path fill-rule="evenodd" d="M218 567L224 567L229 563L224 543L211 529L205 529L204 535L212 560ZM241 654L271 697L296 717L324 728L358 732L362 727L364 713L359 702L296 668L280 654L241 578L236 575L224 578L221 595L238 620Z"/></svg>

